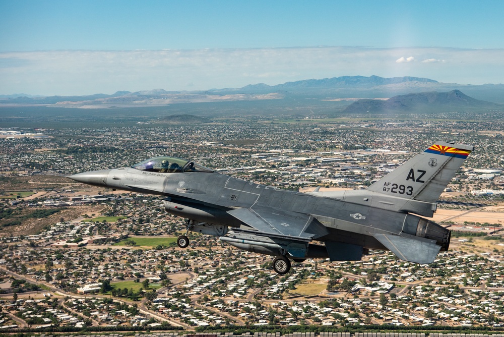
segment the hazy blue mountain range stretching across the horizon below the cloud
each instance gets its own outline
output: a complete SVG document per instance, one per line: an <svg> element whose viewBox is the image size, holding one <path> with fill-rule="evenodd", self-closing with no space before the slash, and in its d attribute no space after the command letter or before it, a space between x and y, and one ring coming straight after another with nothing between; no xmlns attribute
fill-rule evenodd
<svg viewBox="0 0 504 337"><path fill-rule="evenodd" d="M325 79L310 79L286 82L275 86L264 83L247 85L242 88L209 89L206 91L117 91L112 95L95 94L88 96L28 96L2 95L1 104L41 104L54 107L131 107L163 106L174 103L200 103L224 101L253 101L272 99L348 99L348 98L389 98L398 95L425 92L464 92L478 100L504 103L504 84L460 85L441 83L418 77L342 76ZM425 98L426 102L432 99ZM417 97L418 98L418 97ZM392 98L391 98L392 99ZM439 98L440 99L440 98ZM469 102L467 102L469 103ZM374 104L372 102L360 102ZM387 103L392 104L392 103ZM380 105L380 104L378 104ZM397 104L392 104L396 106ZM382 106L382 108L385 108Z"/></svg>

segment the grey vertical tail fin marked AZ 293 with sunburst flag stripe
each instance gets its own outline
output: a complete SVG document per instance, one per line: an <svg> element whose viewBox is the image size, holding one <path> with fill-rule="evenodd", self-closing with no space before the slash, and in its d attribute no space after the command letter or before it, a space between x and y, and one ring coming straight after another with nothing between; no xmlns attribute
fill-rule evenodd
<svg viewBox="0 0 504 337"><path fill-rule="evenodd" d="M405 199L435 203L474 146L436 142L367 188Z"/></svg>

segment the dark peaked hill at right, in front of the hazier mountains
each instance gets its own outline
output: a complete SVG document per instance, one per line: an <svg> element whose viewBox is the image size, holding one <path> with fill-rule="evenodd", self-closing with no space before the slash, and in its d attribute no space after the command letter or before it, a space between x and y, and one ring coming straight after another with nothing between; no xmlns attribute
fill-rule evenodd
<svg viewBox="0 0 504 337"><path fill-rule="evenodd" d="M420 92L394 96L387 100L359 99L343 110L345 114L381 114L437 111L469 111L474 109L504 108L496 104L469 97L460 90L450 92Z"/></svg>

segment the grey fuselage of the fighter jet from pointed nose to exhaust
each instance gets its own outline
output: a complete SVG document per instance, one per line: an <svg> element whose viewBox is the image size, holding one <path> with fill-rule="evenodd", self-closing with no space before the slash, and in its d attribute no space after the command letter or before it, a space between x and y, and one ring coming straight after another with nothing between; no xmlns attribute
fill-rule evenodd
<svg viewBox="0 0 504 337"><path fill-rule="evenodd" d="M101 177L97 178L99 173ZM72 177L86 174L91 173ZM374 238L377 233L414 237L422 227L438 226L417 215L366 206L362 204L364 201L357 204L321 198L219 173L158 173L124 167L95 171L94 176L94 180L88 181L88 184L163 196L166 200L165 208L169 213L228 227L240 227L241 221L227 213L237 208L274 208L298 213L299 216L311 214L328 230L314 240L341 242L364 249L387 250ZM82 179L84 178L78 181ZM362 197L362 200L364 199ZM442 250L447 250L448 231L442 232L444 233L435 240L442 246Z"/></svg>

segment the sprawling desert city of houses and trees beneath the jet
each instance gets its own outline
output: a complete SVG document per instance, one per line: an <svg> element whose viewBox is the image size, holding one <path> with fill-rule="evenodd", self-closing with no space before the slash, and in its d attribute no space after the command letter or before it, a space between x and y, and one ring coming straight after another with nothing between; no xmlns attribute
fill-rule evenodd
<svg viewBox="0 0 504 337"><path fill-rule="evenodd" d="M501 120L232 118L6 129L1 327L498 330L504 325ZM430 265L371 251L362 261L294 263L282 276L270 258L213 237L194 235L181 250L175 241L183 219L167 214L158 197L65 178L170 155L278 188L362 189L436 140L473 144L476 151L442 195L434 220L452 230L452 245Z"/></svg>

